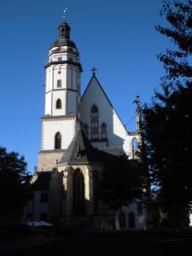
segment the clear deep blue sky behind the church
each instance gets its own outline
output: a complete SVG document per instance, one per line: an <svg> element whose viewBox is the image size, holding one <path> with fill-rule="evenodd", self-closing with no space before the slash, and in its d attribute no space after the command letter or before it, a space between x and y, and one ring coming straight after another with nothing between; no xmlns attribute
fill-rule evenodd
<svg viewBox="0 0 192 256"><path fill-rule="evenodd" d="M164 74L156 54L170 42L155 32L161 0L12 0L1 1L0 146L26 157L28 171L38 164L41 116L44 115L44 63L57 38L62 11L67 7L71 38L84 72L82 93L91 67L128 131L136 129L140 94L149 102Z"/></svg>

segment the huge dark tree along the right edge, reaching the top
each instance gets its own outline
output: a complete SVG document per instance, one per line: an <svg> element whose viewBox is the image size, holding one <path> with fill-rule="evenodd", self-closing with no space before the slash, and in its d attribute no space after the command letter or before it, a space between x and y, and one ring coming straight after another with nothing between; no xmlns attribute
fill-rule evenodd
<svg viewBox="0 0 192 256"><path fill-rule="evenodd" d="M192 1L164 1L169 27L156 26L175 49L158 55L166 75L153 102L144 104L143 139L154 192L174 226L187 225L192 201Z"/></svg>

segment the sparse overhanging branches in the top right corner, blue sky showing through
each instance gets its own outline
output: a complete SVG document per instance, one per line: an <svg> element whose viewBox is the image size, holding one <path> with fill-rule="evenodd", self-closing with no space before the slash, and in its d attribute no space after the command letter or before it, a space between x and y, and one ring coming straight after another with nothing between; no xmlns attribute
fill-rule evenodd
<svg viewBox="0 0 192 256"><path fill-rule="evenodd" d="M156 30L176 46L158 55L166 70L163 82L169 89L177 90L177 85L192 77L192 1L164 1L160 14L166 17L169 26L159 25Z"/></svg>

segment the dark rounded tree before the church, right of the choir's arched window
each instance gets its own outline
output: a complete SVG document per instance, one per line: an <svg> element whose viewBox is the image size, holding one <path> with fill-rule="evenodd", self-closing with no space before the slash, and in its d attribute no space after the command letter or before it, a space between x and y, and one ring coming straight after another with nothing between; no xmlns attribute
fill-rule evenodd
<svg viewBox="0 0 192 256"><path fill-rule="evenodd" d="M142 167L137 160L127 160L127 156L111 157L96 183L97 198L118 210L142 195Z"/></svg>

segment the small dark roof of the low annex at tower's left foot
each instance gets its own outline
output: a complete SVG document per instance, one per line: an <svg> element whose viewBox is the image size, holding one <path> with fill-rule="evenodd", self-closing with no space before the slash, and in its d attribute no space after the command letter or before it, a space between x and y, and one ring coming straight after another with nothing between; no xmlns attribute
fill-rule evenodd
<svg viewBox="0 0 192 256"><path fill-rule="evenodd" d="M38 172L37 180L32 184L33 190L49 190L51 172Z"/></svg>

